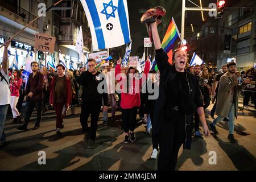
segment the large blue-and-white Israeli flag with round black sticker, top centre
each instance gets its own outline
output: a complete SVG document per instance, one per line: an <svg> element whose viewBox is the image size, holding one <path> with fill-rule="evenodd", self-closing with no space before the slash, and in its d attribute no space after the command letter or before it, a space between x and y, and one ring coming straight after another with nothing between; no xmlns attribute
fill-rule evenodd
<svg viewBox="0 0 256 182"><path fill-rule="evenodd" d="M93 49L131 42L126 0L80 0L92 34Z"/></svg>

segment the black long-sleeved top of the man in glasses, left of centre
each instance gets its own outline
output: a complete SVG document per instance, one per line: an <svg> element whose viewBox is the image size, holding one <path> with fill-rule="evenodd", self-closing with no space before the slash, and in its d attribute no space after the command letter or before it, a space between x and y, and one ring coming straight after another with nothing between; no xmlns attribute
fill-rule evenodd
<svg viewBox="0 0 256 182"><path fill-rule="evenodd" d="M82 72L80 77L77 78L77 82L82 85L82 102L102 102L103 97L104 105L108 105L108 90L104 93L98 92L98 85L100 83L103 85L102 89L105 88L106 79L104 74L97 72L93 75L88 71Z"/></svg>

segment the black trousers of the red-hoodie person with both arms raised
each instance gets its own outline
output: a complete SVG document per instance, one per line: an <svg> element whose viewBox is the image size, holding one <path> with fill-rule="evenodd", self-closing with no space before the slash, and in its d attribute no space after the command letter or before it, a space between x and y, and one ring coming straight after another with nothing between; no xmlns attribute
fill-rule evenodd
<svg viewBox="0 0 256 182"><path fill-rule="evenodd" d="M131 109L122 109L122 124L125 133L135 130L137 118L137 107Z"/></svg>

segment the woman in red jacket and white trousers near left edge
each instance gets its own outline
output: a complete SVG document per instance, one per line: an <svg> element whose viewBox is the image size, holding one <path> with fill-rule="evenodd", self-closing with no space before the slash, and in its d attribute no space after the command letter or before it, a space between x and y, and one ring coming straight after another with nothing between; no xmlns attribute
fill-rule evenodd
<svg viewBox="0 0 256 182"><path fill-rule="evenodd" d="M20 114L16 108L19 100L19 90L22 85L21 73L18 69L15 69L10 80L11 89L11 111L13 113L13 123L21 123Z"/></svg>

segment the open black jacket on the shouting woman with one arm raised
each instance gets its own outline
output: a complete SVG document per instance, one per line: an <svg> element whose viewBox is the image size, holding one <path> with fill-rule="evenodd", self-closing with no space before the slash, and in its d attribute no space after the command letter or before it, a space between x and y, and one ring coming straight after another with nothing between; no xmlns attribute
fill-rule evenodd
<svg viewBox="0 0 256 182"><path fill-rule="evenodd" d="M155 103L155 115L154 121L157 124L156 131L160 131L161 123L168 122L164 119L164 111L167 109L165 106L170 106L170 103L166 103L167 98L167 81L173 80L176 76L175 68L168 63L168 56L163 51L163 49L156 50L155 61L158 65L160 71L160 85L159 85L159 97ZM189 103L187 105L187 113L185 113L185 124L186 124L186 139L183 143L183 148L191 148L192 140L192 129L193 129L193 117L192 114L196 112L198 107L203 107L203 103L200 98L200 89L195 75L190 72L185 71L187 81L188 81L188 92L185 95L185 100ZM180 88L174 88L180 89ZM171 109L171 108L170 108Z"/></svg>

